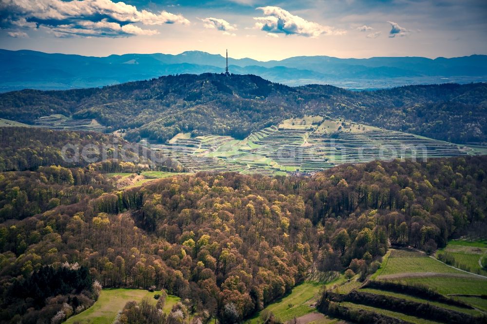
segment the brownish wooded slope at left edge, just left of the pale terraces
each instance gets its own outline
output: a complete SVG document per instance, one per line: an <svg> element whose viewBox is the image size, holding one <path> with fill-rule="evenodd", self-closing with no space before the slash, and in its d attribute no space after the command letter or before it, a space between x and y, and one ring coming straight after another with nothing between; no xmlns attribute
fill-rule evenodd
<svg viewBox="0 0 487 324"><path fill-rule="evenodd" d="M133 150L129 144L113 134L99 132L59 131L37 127L0 127L0 172L36 170L39 166L76 167L93 164L104 172L134 172L140 169L160 169L182 171L179 162L169 157L158 159L158 153L145 154L141 147ZM66 149L63 147L67 145ZM83 148L94 149L85 150ZM83 152L89 159L83 159ZM118 154L118 155L117 155ZM112 163L111 160L125 154L125 162ZM154 156L154 161L150 158Z"/></svg>

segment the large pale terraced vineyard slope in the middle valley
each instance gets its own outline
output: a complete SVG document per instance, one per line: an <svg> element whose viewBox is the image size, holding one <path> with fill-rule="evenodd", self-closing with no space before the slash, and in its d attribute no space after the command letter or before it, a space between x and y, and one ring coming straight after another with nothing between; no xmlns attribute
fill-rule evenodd
<svg viewBox="0 0 487 324"><path fill-rule="evenodd" d="M149 145L142 141L143 144ZM431 158L483 154L412 134L321 116L285 120L244 140L209 135L176 135L168 144L151 144L191 171L235 171L263 175L315 172L342 163L393 158Z"/></svg>

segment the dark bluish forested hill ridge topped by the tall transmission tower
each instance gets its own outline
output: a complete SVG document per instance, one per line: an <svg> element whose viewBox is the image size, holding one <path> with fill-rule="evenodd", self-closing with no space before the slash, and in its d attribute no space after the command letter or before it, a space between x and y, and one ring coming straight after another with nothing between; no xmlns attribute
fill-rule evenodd
<svg viewBox="0 0 487 324"><path fill-rule="evenodd" d="M332 86L287 87L255 75L163 76L101 89L22 90L0 94L3 118L34 123L41 116L95 118L127 139L165 142L179 132L243 138L304 114L456 143L487 140L487 84L406 86L352 92Z"/></svg>

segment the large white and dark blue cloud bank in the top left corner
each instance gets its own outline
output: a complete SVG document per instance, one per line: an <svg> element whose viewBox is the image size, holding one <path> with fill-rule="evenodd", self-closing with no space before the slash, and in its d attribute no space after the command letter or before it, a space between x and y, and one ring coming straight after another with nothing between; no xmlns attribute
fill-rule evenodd
<svg viewBox="0 0 487 324"><path fill-rule="evenodd" d="M59 37L155 35L142 25L189 24L182 15L153 13L112 0L1 0L0 28L40 28Z"/></svg>

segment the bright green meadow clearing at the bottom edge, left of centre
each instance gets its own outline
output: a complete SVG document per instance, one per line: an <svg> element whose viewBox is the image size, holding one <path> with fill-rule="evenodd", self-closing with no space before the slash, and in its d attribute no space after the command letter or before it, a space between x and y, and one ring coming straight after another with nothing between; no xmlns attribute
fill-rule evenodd
<svg viewBox="0 0 487 324"><path fill-rule="evenodd" d="M155 292L141 289L108 288L101 291L100 297L93 306L85 311L70 317L66 323L90 323L90 324L112 324L117 313L130 301L140 302L143 298L149 298L155 305ZM173 305L179 301L179 297L168 296L164 311L169 313Z"/></svg>

